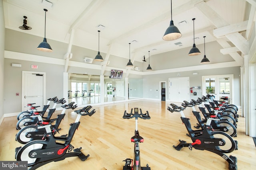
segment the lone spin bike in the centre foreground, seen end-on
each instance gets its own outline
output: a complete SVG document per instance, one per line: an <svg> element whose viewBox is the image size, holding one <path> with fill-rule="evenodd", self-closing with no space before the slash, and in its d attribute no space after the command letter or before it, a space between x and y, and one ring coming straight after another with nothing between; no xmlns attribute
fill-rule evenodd
<svg viewBox="0 0 256 170"><path fill-rule="evenodd" d="M126 160L123 160L125 162L125 166L123 166L123 170L150 170L150 167L148 167L148 164L146 167L141 167L140 166L140 148L139 148L139 143L144 142L143 137L140 136L139 131L138 131L138 118L141 119L150 119L148 111L146 113L142 113L140 109L140 113L138 108L134 108L134 113L127 113L124 111L123 119L130 119L135 117L135 135L131 138L131 142L134 142L134 165L133 160L127 158Z"/></svg>

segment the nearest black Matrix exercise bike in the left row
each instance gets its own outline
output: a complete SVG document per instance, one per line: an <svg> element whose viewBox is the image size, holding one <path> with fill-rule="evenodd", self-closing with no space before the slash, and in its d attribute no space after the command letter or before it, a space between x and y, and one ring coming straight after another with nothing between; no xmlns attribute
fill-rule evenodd
<svg viewBox="0 0 256 170"><path fill-rule="evenodd" d="M52 135L50 125L42 126L46 130L46 134L42 140L35 140L27 143L23 147L15 149L15 158L17 161L28 161L29 170L35 170L36 168L48 164L50 162L56 162L64 160L65 158L78 156L82 161L86 160L90 155L84 155L81 152L82 147L74 149L70 144L76 129L80 124L80 117L89 115L92 116L95 113L95 109L89 112L89 110L77 110L74 111L77 114L76 121L70 124L67 137L55 137ZM72 150L74 149L74 152Z"/></svg>

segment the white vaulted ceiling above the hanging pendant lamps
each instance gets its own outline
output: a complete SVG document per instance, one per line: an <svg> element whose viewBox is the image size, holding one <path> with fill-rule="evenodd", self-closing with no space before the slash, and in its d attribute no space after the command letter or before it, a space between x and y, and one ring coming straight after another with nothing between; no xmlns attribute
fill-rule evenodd
<svg viewBox="0 0 256 170"><path fill-rule="evenodd" d="M74 30L73 45L98 51L98 30L100 30L100 52L118 57L129 58L131 53L136 61L142 61L143 55L164 53L193 45L193 21L195 25L195 43L215 41L212 31L216 24L205 15L204 8L209 6L226 23L244 21L246 0L172 0L172 19L182 33L180 39L164 41L162 36L170 24L170 0L3 0L5 27L44 37L44 8L46 13L46 38L70 42L71 30ZM205 9L207 10L207 9ZM27 16L31 30L21 30L23 16ZM180 25L179 22L187 24ZM99 29L98 25L104 25ZM137 43L133 41L136 40ZM181 42L182 46L174 43ZM54 50L54 47L52 47ZM156 50L153 50L156 49ZM201 51L203 52L203 51Z"/></svg>

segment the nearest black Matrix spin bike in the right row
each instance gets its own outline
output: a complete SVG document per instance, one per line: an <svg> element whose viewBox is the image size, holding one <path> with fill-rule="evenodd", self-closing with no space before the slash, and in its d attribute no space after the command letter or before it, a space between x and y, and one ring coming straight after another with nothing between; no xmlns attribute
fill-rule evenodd
<svg viewBox="0 0 256 170"><path fill-rule="evenodd" d="M206 125L202 130L192 130L189 118L186 118L183 109L172 109L167 108L170 112L180 112L181 120L185 124L186 129L189 133L192 143L186 143L186 141L179 140L177 146L173 145L174 149L181 150L183 147L188 147L189 150L198 149L198 150L208 150L215 154L218 154L228 162L229 170L237 170L237 158L230 155L229 157L225 153L233 152L238 148L237 142L234 141L230 135L222 131L211 131L212 127L210 125L212 117L209 117Z"/></svg>

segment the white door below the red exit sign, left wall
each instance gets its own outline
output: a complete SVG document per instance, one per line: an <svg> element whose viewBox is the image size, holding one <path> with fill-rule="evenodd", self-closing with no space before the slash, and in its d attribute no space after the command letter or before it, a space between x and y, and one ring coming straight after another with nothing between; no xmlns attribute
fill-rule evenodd
<svg viewBox="0 0 256 170"><path fill-rule="evenodd" d="M29 103L36 103L41 110L45 104L45 72L22 71L22 111Z"/></svg>

